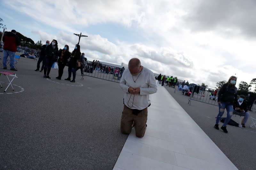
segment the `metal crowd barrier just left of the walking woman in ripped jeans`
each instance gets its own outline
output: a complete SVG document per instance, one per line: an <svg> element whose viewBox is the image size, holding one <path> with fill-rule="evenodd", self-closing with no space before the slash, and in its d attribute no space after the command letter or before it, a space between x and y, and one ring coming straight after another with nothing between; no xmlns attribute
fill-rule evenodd
<svg viewBox="0 0 256 170"><path fill-rule="evenodd" d="M188 100L188 104L191 105L191 101L199 101L202 103L207 103L214 106L218 105L218 90L214 90L208 87L203 87L199 85L189 85L190 98Z"/></svg>

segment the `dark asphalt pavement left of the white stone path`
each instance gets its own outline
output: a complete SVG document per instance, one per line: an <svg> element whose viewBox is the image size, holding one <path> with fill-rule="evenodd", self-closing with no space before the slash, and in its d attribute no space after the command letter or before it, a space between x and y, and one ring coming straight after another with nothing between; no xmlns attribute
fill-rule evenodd
<svg viewBox="0 0 256 170"><path fill-rule="evenodd" d="M80 70L71 83L67 67L62 80L53 69L46 79L36 63L21 57L14 91L0 88L0 169L112 169L128 137L119 84L80 80Z"/></svg>

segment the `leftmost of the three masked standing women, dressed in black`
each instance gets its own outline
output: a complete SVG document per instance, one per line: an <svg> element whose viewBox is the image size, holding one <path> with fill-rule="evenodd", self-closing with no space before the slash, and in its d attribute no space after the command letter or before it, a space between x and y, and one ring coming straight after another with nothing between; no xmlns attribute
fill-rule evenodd
<svg viewBox="0 0 256 170"><path fill-rule="evenodd" d="M52 68L52 64L58 59L58 42L52 40L51 44L45 49L45 66L44 66L44 78L50 78L49 74Z"/></svg>

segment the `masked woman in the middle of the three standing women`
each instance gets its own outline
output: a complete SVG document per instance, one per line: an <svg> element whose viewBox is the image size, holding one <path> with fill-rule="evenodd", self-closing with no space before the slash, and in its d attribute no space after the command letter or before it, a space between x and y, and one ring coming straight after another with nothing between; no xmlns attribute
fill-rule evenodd
<svg viewBox="0 0 256 170"><path fill-rule="evenodd" d="M70 57L69 47L68 45L65 45L63 49L59 51L60 58L58 59L58 65L59 65L59 76L56 77L57 79L61 80L64 67L66 66L68 62L68 58Z"/></svg>

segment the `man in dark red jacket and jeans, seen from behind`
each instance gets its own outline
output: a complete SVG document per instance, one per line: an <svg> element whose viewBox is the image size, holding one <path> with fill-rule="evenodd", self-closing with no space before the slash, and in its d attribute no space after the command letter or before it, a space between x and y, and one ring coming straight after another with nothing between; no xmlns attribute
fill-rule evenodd
<svg viewBox="0 0 256 170"><path fill-rule="evenodd" d="M7 69L6 62L8 56L10 57L10 70L17 71L14 66L14 57L15 52L17 51L17 46L20 45L20 39L16 35L16 31L12 30L11 32L5 32L4 37L4 57L3 57L3 69Z"/></svg>

